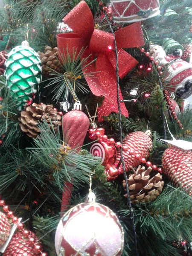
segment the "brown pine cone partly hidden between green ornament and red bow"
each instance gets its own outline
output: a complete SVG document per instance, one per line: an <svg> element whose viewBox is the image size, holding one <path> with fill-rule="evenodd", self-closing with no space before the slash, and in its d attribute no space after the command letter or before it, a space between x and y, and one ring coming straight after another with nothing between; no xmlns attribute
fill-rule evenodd
<svg viewBox="0 0 192 256"><path fill-rule="evenodd" d="M50 73L55 70L56 72L61 72L61 64L58 61L58 48L51 48L45 46L45 53L38 52L39 58L41 59L42 65L42 76L45 78L50 78L52 75Z"/></svg>

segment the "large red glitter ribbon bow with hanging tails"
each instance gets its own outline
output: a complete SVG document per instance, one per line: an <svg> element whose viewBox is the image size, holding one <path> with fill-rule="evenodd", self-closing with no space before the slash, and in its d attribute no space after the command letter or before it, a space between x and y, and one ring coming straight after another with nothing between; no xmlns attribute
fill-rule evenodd
<svg viewBox="0 0 192 256"><path fill-rule="evenodd" d="M66 48L71 52L73 47L87 47L84 57L89 56L89 64L97 57L96 63L92 63L83 68L85 79L90 90L96 96L105 96L101 108L98 109L98 120L102 116L108 116L112 111L118 113L116 103L116 56L114 49L113 34L94 29L93 15L85 1L81 1L64 18L66 23L75 33L65 33L57 35L58 49ZM122 79L133 67L137 61L121 48L140 47L144 44L143 32L140 22L126 26L115 32L116 44L118 48L119 77ZM62 39L62 40L61 40ZM62 43L61 43L62 42ZM96 72L96 73L95 73ZM88 74L95 73L94 77ZM119 98L122 94L119 91ZM128 116L125 104L122 103L122 114Z"/></svg>

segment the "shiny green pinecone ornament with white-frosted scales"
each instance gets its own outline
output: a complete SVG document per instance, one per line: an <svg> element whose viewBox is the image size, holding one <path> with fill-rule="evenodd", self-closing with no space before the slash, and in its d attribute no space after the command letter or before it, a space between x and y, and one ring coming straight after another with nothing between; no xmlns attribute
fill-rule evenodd
<svg viewBox="0 0 192 256"><path fill-rule="evenodd" d="M12 49L5 62L6 87L16 99L18 110L22 111L32 103L38 91L41 76L41 60L27 41Z"/></svg>

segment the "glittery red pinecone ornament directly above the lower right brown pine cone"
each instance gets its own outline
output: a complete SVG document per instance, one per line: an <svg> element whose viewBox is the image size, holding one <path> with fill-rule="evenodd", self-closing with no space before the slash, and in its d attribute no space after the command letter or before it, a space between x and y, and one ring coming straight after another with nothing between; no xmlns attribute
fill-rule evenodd
<svg viewBox="0 0 192 256"><path fill-rule="evenodd" d="M149 157L150 151L152 149L152 140L150 138L151 132L146 131L135 131L128 134L123 140L123 147L127 146L128 151L123 151L125 171L130 170L130 166L137 167L141 163L141 158ZM115 166L119 173L123 173L122 165L119 166L120 161L120 150L117 151L116 161L113 166Z"/></svg>

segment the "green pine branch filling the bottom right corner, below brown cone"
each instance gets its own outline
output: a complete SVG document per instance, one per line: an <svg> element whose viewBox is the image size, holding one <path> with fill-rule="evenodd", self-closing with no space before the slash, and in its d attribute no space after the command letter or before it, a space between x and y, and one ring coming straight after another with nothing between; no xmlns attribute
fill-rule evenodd
<svg viewBox="0 0 192 256"><path fill-rule="evenodd" d="M150 204L134 206L139 251L146 255L180 255L173 242L181 236L191 241L192 200L185 192L168 186ZM128 210L122 210L122 218L128 218ZM145 245L144 245L145 243Z"/></svg>

